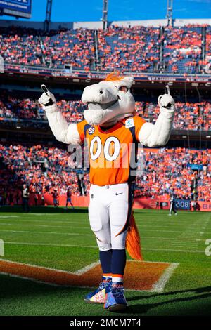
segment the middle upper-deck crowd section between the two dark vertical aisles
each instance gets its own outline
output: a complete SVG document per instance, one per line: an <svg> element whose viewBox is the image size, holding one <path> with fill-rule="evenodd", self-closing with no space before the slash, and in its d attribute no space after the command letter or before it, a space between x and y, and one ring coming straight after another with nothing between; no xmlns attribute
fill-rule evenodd
<svg viewBox="0 0 211 330"><path fill-rule="evenodd" d="M112 27L98 32L101 70L153 72L159 60L159 29Z"/></svg>

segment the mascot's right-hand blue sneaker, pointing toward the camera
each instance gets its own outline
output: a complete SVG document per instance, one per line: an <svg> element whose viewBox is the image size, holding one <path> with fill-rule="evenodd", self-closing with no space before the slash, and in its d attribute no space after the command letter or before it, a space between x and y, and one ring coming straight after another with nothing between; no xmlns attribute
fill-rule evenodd
<svg viewBox="0 0 211 330"><path fill-rule="evenodd" d="M104 304L104 308L110 312L124 312L124 310L129 308L126 298L124 297L123 284L112 282L112 285L110 285L110 291L106 293L106 303Z"/></svg>

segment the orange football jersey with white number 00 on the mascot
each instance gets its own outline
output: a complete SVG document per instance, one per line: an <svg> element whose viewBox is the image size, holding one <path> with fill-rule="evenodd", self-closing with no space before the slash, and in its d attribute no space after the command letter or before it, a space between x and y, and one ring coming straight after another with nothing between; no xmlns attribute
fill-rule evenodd
<svg viewBox="0 0 211 330"><path fill-rule="evenodd" d="M136 159L139 131L145 122L134 116L111 128L91 126L85 120L77 124L82 142L86 138L89 147L91 184L115 185L134 180L131 159Z"/></svg>

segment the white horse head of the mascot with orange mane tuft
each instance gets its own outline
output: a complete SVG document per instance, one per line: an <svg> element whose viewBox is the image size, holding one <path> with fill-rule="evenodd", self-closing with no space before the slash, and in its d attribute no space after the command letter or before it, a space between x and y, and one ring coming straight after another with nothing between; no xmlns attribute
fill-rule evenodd
<svg viewBox="0 0 211 330"><path fill-rule="evenodd" d="M108 74L105 81L84 88L82 102L87 104L84 118L90 125L110 126L134 113L135 100L130 91L134 78Z"/></svg>

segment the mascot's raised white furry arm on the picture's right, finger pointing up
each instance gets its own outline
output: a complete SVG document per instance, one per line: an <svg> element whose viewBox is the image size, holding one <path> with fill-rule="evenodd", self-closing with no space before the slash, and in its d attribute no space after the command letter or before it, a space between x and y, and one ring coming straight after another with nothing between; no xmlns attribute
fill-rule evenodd
<svg viewBox="0 0 211 330"><path fill-rule="evenodd" d="M156 147L166 145L172 130L174 120L175 103L170 95L170 88L167 88L167 94L159 96L158 105L160 114L155 124L145 123L139 131L139 140L146 147Z"/></svg>

